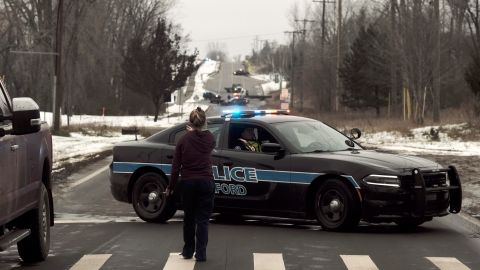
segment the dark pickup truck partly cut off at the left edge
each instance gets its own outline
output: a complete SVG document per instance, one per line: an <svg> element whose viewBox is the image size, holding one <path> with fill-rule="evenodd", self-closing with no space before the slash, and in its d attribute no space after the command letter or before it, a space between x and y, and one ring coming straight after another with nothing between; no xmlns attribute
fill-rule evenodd
<svg viewBox="0 0 480 270"><path fill-rule="evenodd" d="M47 258L53 226L52 136L31 98L0 81L0 252L17 244L24 262Z"/></svg>

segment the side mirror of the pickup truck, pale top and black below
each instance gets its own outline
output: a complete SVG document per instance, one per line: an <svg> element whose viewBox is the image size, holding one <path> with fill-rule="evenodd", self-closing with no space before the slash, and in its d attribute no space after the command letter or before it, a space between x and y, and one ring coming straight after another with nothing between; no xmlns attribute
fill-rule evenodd
<svg viewBox="0 0 480 270"><path fill-rule="evenodd" d="M30 134L40 131L42 121L40 108L33 99L28 97L12 100L12 126L15 135Z"/></svg>

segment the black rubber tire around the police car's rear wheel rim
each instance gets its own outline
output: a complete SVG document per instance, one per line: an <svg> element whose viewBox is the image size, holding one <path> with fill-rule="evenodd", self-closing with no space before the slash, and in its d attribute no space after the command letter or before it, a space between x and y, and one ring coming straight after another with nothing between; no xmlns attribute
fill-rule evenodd
<svg viewBox="0 0 480 270"><path fill-rule="evenodd" d="M163 202L159 211L148 212L141 206L140 193L146 185L156 185L159 187L158 192L164 192L167 187L165 178L155 172L147 172L138 177L132 189L132 205L135 213L144 221L151 223L165 223L175 215L176 207L173 196L165 199L165 195L160 195Z"/></svg>

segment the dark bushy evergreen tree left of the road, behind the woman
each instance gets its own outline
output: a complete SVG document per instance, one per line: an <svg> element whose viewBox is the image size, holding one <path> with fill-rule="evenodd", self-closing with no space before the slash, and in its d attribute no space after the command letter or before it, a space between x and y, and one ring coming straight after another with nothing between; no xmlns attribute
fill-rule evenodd
<svg viewBox="0 0 480 270"><path fill-rule="evenodd" d="M151 98L155 106L155 122L165 97L184 86L197 69L195 59L198 52L188 54L182 50L182 45L181 36L165 19L129 42L122 64L125 84L132 91Z"/></svg>

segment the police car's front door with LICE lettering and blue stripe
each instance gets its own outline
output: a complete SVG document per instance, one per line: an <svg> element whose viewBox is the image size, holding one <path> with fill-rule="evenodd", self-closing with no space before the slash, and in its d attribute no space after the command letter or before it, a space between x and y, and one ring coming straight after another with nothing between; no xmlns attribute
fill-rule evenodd
<svg viewBox="0 0 480 270"><path fill-rule="evenodd" d="M214 170L216 207L255 212L283 212L290 185L290 157L235 149L245 128L253 128L260 143L280 143L266 125L232 119L228 124L222 167Z"/></svg>

